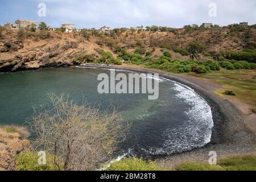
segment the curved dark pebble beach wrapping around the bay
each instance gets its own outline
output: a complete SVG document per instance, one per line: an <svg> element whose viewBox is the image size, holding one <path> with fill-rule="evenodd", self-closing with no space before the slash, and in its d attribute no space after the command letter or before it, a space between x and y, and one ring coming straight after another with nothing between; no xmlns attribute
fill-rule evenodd
<svg viewBox="0 0 256 182"><path fill-rule="evenodd" d="M179 82L180 84L195 90L195 92L207 102L212 110L214 122L210 143L192 151L154 158L160 166L174 166L183 161L208 161L210 151L216 151L220 158L232 154L256 154L255 134L247 130L245 126L245 121L248 118L236 105L232 104L232 102L223 100L214 93L216 90L213 88L217 84L213 82L188 75L177 75L156 69L147 69L130 65L120 65L115 67L86 65L78 67L123 69L137 73L158 73L160 77ZM218 86L221 88L220 85ZM245 131L246 135L240 136L239 133L241 131Z"/></svg>

